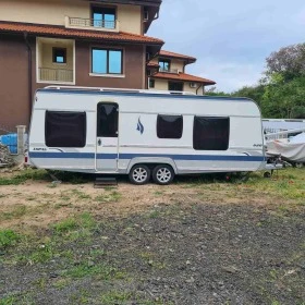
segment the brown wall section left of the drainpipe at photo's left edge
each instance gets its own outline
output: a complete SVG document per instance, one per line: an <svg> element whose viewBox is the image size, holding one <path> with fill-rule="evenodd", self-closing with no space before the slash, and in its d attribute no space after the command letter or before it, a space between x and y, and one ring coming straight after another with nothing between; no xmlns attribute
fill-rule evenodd
<svg viewBox="0 0 305 305"><path fill-rule="evenodd" d="M28 52L24 38L0 34L0 127L28 126Z"/></svg>

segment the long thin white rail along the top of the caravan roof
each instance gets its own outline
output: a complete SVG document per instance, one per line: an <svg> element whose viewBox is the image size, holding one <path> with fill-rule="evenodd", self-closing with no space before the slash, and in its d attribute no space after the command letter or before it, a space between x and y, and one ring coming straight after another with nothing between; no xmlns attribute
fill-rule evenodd
<svg viewBox="0 0 305 305"><path fill-rule="evenodd" d="M157 95L195 95L190 91L166 91L166 90L147 90L147 89L125 89L125 88L103 88L103 87L81 87L81 86L47 86L46 89L57 90L86 90L86 91L105 91L105 93L138 93L138 94L157 94Z"/></svg>

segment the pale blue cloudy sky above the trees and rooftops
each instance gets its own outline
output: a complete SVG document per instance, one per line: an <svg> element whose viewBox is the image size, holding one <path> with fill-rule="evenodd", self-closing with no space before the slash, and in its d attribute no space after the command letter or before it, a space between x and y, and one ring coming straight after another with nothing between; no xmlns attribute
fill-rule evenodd
<svg viewBox="0 0 305 305"><path fill-rule="evenodd" d="M305 42L305 1L163 0L147 35L197 58L186 73L230 93L257 84L271 52Z"/></svg>

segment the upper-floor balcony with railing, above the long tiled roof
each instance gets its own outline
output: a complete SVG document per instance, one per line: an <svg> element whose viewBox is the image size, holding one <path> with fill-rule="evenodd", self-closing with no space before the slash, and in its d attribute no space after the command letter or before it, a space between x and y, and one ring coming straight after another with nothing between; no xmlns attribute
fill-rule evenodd
<svg viewBox="0 0 305 305"><path fill-rule="evenodd" d="M65 16L65 27L119 33L120 22Z"/></svg>

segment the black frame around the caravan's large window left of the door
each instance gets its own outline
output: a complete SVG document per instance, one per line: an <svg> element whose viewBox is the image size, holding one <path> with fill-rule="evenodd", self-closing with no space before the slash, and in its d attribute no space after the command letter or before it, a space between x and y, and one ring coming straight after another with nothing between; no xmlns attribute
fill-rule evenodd
<svg viewBox="0 0 305 305"><path fill-rule="evenodd" d="M68 146L53 146L53 145L48 145L49 144L49 135L48 135L48 114L49 113L57 113L57 114L83 114L84 115L84 122L83 122L83 136L84 138L82 139L82 145L68 145ZM53 110L46 110L45 112L45 144L47 147L54 148L54 147L60 147L60 148L84 148L86 147L87 143L87 113L86 111L53 111Z"/></svg>

